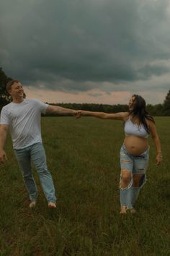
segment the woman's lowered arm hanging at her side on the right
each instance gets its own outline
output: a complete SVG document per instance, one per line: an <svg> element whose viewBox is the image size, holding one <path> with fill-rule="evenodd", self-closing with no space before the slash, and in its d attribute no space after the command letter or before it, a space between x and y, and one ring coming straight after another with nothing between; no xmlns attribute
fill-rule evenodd
<svg viewBox="0 0 170 256"><path fill-rule="evenodd" d="M156 164L158 165L162 161L162 153L161 153L161 142L158 137L158 133L156 132L156 125L153 123L153 121L148 121L148 126L151 131L151 136L156 148Z"/></svg>

